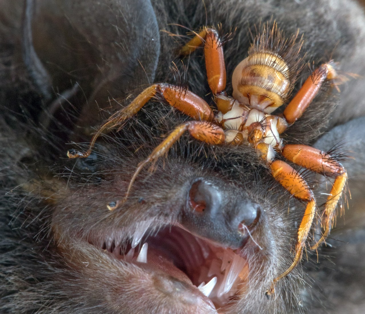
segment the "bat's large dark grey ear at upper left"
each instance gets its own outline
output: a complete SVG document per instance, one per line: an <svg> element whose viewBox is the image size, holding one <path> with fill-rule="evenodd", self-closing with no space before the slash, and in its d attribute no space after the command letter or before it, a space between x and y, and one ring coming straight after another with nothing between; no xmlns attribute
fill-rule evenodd
<svg viewBox="0 0 365 314"><path fill-rule="evenodd" d="M26 0L22 51L52 118L70 106L90 127L108 99L154 81L160 34L150 0Z"/></svg>

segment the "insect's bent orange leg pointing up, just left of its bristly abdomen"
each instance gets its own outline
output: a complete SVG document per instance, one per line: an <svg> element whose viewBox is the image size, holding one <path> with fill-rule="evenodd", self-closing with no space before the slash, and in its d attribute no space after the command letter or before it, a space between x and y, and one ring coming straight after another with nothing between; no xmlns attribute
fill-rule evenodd
<svg viewBox="0 0 365 314"><path fill-rule="evenodd" d="M208 84L213 94L216 95L226 88L226 65L218 32L214 28L205 27L181 48L180 53L189 54L203 44Z"/></svg>

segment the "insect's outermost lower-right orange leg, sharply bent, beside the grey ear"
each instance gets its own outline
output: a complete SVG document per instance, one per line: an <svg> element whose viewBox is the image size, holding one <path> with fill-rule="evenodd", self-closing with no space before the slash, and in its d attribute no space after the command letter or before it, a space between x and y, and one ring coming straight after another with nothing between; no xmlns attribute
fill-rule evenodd
<svg viewBox="0 0 365 314"><path fill-rule="evenodd" d="M297 165L335 178L330 195L328 195L326 204L324 205L322 221L323 235L311 247L311 249L316 249L331 231L335 220L336 207L347 182L347 173L345 168L338 161L334 160L330 154L310 146L288 144L284 146L282 154L285 158Z"/></svg>

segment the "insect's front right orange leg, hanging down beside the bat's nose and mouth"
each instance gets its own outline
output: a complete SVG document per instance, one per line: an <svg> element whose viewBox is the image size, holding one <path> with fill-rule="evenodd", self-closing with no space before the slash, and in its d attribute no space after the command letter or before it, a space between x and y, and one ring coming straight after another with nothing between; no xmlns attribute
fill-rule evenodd
<svg viewBox="0 0 365 314"><path fill-rule="evenodd" d="M316 202L314 199L314 195L307 182L297 171L295 171L295 169L293 169L284 161L276 160L271 164L271 172L273 177L281 185L283 185L283 187L286 188L290 192L290 194L308 203L304 212L303 219L298 229L294 260L285 272L283 272L281 275L277 276L273 280L270 289L266 291L267 295L272 295L275 292L275 284L281 278L287 276L301 260L301 257L303 255L303 249L306 245L306 240L316 212Z"/></svg>

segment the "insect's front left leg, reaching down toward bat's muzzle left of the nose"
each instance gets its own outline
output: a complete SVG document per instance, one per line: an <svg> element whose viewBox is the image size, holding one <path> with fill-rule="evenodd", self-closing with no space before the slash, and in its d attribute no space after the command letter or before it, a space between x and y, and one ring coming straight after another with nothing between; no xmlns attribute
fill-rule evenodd
<svg viewBox="0 0 365 314"><path fill-rule="evenodd" d="M192 137L198 139L199 141L209 143L211 145L224 143L225 135L223 129L209 121L188 121L177 126L168 135L168 137L166 137L166 139L153 150L153 152L150 154L150 156L148 156L147 159L139 163L128 185L124 200L128 198L131 187L139 172L141 172L142 168L149 162L156 162L158 158L168 153L171 146L178 141L178 139L181 137L181 135L184 134L185 131L189 131L190 135L192 135Z"/></svg>

